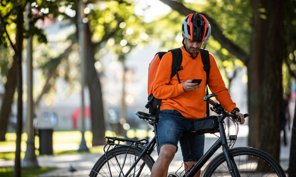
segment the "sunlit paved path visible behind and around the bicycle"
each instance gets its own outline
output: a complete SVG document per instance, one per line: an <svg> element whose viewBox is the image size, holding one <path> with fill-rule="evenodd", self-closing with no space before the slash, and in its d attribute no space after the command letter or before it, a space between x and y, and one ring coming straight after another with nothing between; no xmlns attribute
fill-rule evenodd
<svg viewBox="0 0 296 177"><path fill-rule="evenodd" d="M205 140L205 152L214 144L218 138L206 138ZM247 137L238 137L238 140L234 147L247 146ZM287 170L289 165L289 150L288 146L281 146L280 160L281 166L284 170ZM218 149L213 155L215 157L222 152L222 148ZM39 175L39 177L82 177L88 176L91 168L96 161L102 156L99 153L82 153L82 154L67 154L59 156L42 156L38 157L40 166L46 167L58 167L59 169ZM152 153L154 160L157 159L156 150ZM212 157L212 158L213 158ZM210 159L211 160L211 159ZM175 173L183 162L181 148L178 148L173 162L170 164L169 173ZM0 160L0 167L14 165L13 160ZM69 172L70 165L72 165L76 172ZM206 165L205 165L206 166ZM205 166L203 168L205 168Z"/></svg>

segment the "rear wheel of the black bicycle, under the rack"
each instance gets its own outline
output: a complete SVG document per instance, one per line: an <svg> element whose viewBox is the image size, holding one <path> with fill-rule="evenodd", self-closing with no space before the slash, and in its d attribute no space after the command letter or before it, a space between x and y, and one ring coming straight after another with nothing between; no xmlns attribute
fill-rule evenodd
<svg viewBox="0 0 296 177"><path fill-rule="evenodd" d="M104 154L96 162L89 176L91 177L96 177L96 176L111 177L111 175L112 177L124 176L126 172L130 169L133 162L135 161L135 158L139 157L139 155L142 153L142 150L138 148L131 147L129 150L128 148L129 147L127 146L122 146L118 148L113 148L107 152L107 158L108 158L111 172L108 168L106 156ZM128 150L128 153L126 155L127 150ZM123 166L122 173L120 173L125 155L126 155L126 161ZM117 160L115 159L115 157L117 158ZM149 154L145 153L141 158L141 160L139 161L139 163L137 163L135 168L131 171L129 176L144 177L151 174L151 169L154 163L155 162L153 158ZM139 172L141 173L139 174Z"/></svg>

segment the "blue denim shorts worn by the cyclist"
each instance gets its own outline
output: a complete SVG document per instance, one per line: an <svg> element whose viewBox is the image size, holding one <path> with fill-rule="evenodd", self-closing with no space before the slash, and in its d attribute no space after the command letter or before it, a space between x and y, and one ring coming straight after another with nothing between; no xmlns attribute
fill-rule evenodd
<svg viewBox="0 0 296 177"><path fill-rule="evenodd" d="M181 136L184 131L194 130L193 120L184 117L177 110L161 110L157 122L159 147L174 145L178 150L180 141L184 162L197 162L204 154L205 134Z"/></svg>

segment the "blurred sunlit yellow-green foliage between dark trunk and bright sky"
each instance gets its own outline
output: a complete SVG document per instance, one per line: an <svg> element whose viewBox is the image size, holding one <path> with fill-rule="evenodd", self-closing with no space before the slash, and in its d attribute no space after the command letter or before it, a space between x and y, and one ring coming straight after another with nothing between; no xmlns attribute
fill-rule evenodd
<svg viewBox="0 0 296 177"><path fill-rule="evenodd" d="M106 49L116 53L122 62L133 47L144 47L152 33L151 25L144 23L143 17L134 14L134 6L133 1L99 1L86 5L91 9L87 18L93 41L99 42L114 32L109 37ZM104 46L97 47L99 51ZM102 55L104 52L99 52L96 58Z"/></svg>

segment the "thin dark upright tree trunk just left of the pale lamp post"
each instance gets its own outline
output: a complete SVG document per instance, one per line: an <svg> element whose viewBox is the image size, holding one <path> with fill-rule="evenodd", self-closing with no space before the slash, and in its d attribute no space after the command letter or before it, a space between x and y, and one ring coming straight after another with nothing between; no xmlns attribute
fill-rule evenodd
<svg viewBox="0 0 296 177"><path fill-rule="evenodd" d="M15 149L15 169L13 176L21 176L20 166L20 146L22 136L22 42L23 42L23 24L24 15L23 11L17 14L17 32L16 32L16 45L15 45L15 59L17 60L17 140Z"/></svg>

